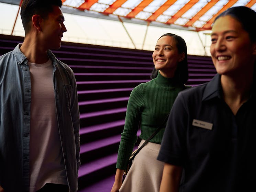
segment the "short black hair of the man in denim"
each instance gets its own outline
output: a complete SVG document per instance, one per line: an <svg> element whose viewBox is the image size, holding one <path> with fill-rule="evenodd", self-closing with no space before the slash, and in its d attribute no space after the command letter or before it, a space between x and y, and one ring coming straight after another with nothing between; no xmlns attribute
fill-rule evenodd
<svg viewBox="0 0 256 192"><path fill-rule="evenodd" d="M62 6L61 0L23 0L21 4L21 20L25 34L30 31L33 15L40 15L47 18L48 14L53 11L53 5Z"/></svg>

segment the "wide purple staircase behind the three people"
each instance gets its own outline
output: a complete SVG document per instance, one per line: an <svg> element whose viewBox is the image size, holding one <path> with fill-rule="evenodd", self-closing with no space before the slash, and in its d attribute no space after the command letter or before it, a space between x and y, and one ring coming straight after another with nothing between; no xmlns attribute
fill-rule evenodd
<svg viewBox="0 0 256 192"><path fill-rule="evenodd" d="M0 55L23 37L0 35ZM150 80L152 52L63 42L55 56L74 71L81 119L79 192L108 192L114 182L116 156L132 89ZM188 56L188 85L208 82L216 74L210 57ZM138 131L138 134L140 131Z"/></svg>

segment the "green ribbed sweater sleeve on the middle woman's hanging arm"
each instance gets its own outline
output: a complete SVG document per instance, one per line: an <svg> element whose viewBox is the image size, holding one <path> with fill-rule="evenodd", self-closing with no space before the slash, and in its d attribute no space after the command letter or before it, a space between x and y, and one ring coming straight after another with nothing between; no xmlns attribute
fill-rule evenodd
<svg viewBox="0 0 256 192"><path fill-rule="evenodd" d="M130 155L137 141L138 125L141 119L141 109L143 106L143 85L135 87L130 95L123 133L118 150L116 168L125 169Z"/></svg>

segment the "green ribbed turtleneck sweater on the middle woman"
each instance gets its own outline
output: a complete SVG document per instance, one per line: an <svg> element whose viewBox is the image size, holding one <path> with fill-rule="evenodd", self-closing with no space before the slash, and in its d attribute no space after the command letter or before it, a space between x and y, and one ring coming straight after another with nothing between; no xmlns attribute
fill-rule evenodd
<svg viewBox="0 0 256 192"><path fill-rule="evenodd" d="M149 82L135 87L130 95L125 117L124 131L118 150L116 168L125 169L137 140L139 122L141 122L140 138L147 140L163 123L171 110L178 93L189 86L177 86L171 78L158 76ZM161 144L163 128L150 140Z"/></svg>

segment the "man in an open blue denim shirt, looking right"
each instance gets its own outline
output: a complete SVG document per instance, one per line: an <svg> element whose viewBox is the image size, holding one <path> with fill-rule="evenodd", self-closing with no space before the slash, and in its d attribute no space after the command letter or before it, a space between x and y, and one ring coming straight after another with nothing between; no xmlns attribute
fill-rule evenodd
<svg viewBox="0 0 256 192"><path fill-rule="evenodd" d="M77 191L79 109L59 49L61 0L23 0L23 44L0 57L0 192Z"/></svg>

